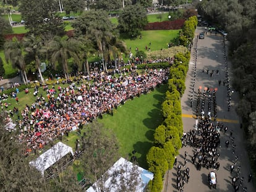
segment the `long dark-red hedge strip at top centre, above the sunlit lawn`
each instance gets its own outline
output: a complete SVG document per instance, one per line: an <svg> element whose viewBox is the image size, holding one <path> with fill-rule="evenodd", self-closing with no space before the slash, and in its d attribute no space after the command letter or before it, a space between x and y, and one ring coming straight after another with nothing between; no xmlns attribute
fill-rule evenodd
<svg viewBox="0 0 256 192"><path fill-rule="evenodd" d="M184 22L184 19L177 19L174 21L167 20L164 22L148 23L148 25L144 27L144 30L179 30L182 28Z"/></svg>

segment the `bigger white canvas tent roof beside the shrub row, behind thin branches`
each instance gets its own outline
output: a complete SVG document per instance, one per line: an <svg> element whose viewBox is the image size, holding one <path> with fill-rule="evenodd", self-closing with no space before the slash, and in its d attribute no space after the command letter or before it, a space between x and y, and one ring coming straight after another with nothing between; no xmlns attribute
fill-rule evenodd
<svg viewBox="0 0 256 192"><path fill-rule="evenodd" d="M132 162L129 162L129 161L127 161L126 159L124 159L122 157L107 171L108 175L110 175L110 176L106 180L104 186L106 188L108 188L108 186L111 186L110 191L111 192L116 192L117 188L115 186L119 186L119 183L121 181L119 179L120 176L117 176L117 177L119 177L119 178L116 178L116 183L117 184L115 186L111 185L111 180L113 180L114 175L115 175L114 172L116 170L118 170L120 167L126 167L127 172L126 173L122 173L122 174L126 174L126 176L129 177L129 175L131 174L131 172L133 170L132 169L133 166L135 166L135 168L137 170L139 170L139 172L140 172L140 174L139 174L140 177L137 178L137 179L141 183L141 185L134 186L134 188L136 188L134 190L137 191L137 192L143 192L143 190L144 190L145 186L148 184L148 182L153 179L153 173L148 172L148 170L145 170L142 167L139 167L137 165L133 165ZM118 174L118 175L120 175L120 174ZM90 188L88 188L87 192L100 192L97 189L97 182L95 182Z"/></svg>

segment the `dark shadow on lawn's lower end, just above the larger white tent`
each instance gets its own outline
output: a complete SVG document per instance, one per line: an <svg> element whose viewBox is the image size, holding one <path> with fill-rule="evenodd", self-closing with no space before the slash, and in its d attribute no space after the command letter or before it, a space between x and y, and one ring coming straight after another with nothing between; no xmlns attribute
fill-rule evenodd
<svg viewBox="0 0 256 192"><path fill-rule="evenodd" d="M136 151L136 154L140 154L141 156L137 159L137 162L139 163L140 167L143 167L144 169L148 169L148 164L147 164L147 153L149 149L153 146L153 143L144 141L138 141L137 143L134 144L134 150Z"/></svg>

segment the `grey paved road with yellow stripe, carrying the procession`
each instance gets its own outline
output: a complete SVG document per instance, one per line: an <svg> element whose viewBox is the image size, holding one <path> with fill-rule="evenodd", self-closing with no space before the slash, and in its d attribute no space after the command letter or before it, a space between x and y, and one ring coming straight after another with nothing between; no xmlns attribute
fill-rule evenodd
<svg viewBox="0 0 256 192"><path fill-rule="evenodd" d="M203 31L203 27L198 27L195 31L197 36L200 31ZM195 40L194 40L195 42ZM244 177L244 183L242 187L246 186L248 191L256 191L252 182L247 183L248 175L250 173L249 160L247 156L247 152L245 151L245 139L243 136L243 130L240 128L239 117L235 112L235 104L237 103L237 93L233 93L231 109L228 111L228 90L226 86L218 85L218 80L223 81L225 78L226 69L224 68L224 57L223 57L223 38L219 35L210 35L207 33L204 40L198 40L197 43L197 78L195 81L195 91L194 93L194 103L193 107L190 107L190 98L192 93L192 81L194 80L194 65L195 65L195 44L192 49L191 59L189 64L189 72L187 73L186 78L186 91L184 96L181 99L182 104L182 120L184 125L184 132L189 131L194 128L195 119L193 115L195 114L195 105L196 99L195 96L199 86L202 86L202 89L205 87L208 88L218 88L216 91L216 103L217 103L217 115L218 120L222 121L224 127L228 127L228 131L225 134L221 132L221 148L218 148L218 152L220 152L220 157L218 162L220 162L220 169L214 170L216 172L218 178L218 184L216 186L217 190L210 190L208 188L208 173L211 169L207 170L202 167L200 171L198 171L191 163L191 157L194 152L194 149L190 147L184 147L180 149L180 155L177 157L177 165L184 164L184 152L187 151L189 153L187 167L190 169L190 179L189 182L185 184L184 191L234 191L233 186L231 185L231 178L236 175L237 169L234 169L233 174L229 172L229 167L233 164L234 156L239 156L239 161L237 165L241 165L241 174L240 177ZM228 68L230 64L228 64ZM216 75L214 73L213 77L210 77L207 73L202 73L202 70L219 70L220 74ZM230 71L228 71L229 77L232 77ZM232 89L232 88L231 88ZM230 140L229 131L233 130L234 141L237 146L235 154L232 153L232 148L228 149L224 147L224 142L226 140ZM184 167L182 166L182 169ZM172 170L165 175L164 180L164 189L163 191L177 191L176 190L176 178L177 178L177 166L175 166ZM240 187L239 191L242 191L242 187Z"/></svg>

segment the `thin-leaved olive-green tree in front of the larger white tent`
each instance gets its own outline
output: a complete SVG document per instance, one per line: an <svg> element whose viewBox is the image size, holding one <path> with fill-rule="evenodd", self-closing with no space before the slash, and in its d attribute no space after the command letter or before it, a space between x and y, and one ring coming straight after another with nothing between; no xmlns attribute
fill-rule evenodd
<svg viewBox="0 0 256 192"><path fill-rule="evenodd" d="M97 183L98 191L106 191L104 183L109 175L106 172L118 158L118 143L113 131L103 124L93 121L85 127L81 138L83 175L92 183Z"/></svg>

